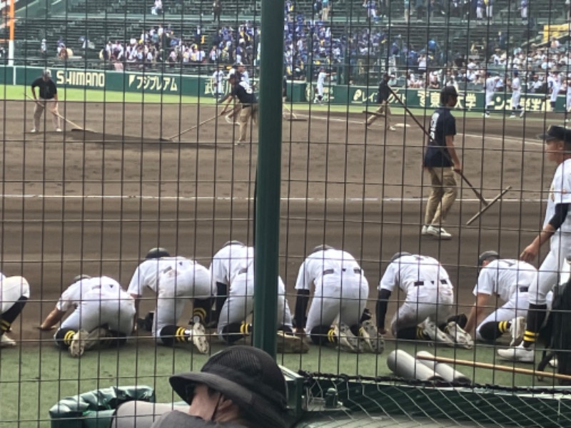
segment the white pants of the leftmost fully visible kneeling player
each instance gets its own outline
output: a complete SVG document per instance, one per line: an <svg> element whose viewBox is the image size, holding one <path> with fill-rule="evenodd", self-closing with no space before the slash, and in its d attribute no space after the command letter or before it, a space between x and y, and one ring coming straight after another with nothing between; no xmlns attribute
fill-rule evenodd
<svg viewBox="0 0 571 428"><path fill-rule="evenodd" d="M61 329L91 332L101 325L107 325L109 330L129 335L133 331L134 316L135 300L126 292L116 297L101 295L99 289L95 289L86 293L76 310L61 323Z"/></svg>

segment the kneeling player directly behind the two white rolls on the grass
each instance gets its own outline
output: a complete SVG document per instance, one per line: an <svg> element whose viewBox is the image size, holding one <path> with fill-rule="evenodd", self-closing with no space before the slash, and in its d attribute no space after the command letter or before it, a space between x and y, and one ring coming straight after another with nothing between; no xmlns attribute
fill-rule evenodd
<svg viewBox="0 0 571 428"><path fill-rule="evenodd" d="M405 294L405 302L390 322L395 338L430 340L466 349L473 347L472 337L458 324L460 318L465 320L465 315L451 316L453 285L438 260L404 252L393 255L378 287L377 327L382 333L388 299L395 287Z"/></svg>

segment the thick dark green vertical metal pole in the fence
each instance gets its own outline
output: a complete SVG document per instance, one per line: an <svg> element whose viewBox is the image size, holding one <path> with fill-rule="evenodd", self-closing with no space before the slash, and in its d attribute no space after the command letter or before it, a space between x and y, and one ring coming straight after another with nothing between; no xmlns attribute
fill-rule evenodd
<svg viewBox="0 0 571 428"><path fill-rule="evenodd" d="M253 344L276 356L278 310L283 0L262 0Z"/></svg>

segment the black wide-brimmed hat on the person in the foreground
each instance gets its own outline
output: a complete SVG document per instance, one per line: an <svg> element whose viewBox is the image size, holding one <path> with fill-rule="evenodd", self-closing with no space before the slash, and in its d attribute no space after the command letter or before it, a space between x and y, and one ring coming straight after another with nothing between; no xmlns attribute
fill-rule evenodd
<svg viewBox="0 0 571 428"><path fill-rule="evenodd" d="M231 399L261 427L285 428L287 385L270 355L251 346L228 347L212 355L200 372L176 374L173 390L191 404L194 389L204 384Z"/></svg>

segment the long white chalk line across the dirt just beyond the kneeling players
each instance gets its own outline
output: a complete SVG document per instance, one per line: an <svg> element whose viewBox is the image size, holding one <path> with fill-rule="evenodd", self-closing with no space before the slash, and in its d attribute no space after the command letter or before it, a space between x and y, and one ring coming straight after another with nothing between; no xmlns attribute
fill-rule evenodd
<svg viewBox="0 0 571 428"><path fill-rule="evenodd" d="M252 197L243 196L156 196L156 195L39 195L39 194L7 194L0 195L1 199L76 199L76 200L180 200L180 201L252 201ZM365 203L365 202L388 202L388 203L410 203L425 201L428 198L303 198L292 197L280 198L281 202L350 202L350 203ZM459 199L462 202L480 202L477 198L463 198ZM516 199L516 198L502 198L503 202L509 203L522 203L522 202L545 202L545 199Z"/></svg>

